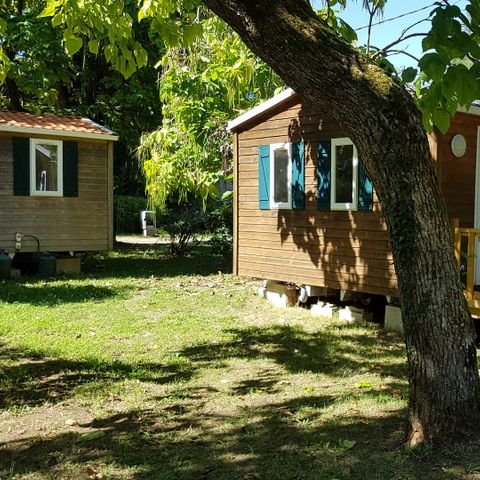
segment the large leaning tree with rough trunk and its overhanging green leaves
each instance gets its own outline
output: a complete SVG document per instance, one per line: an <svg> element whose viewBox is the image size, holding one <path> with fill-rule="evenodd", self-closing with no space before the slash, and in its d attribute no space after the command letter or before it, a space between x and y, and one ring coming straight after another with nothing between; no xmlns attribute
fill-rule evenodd
<svg viewBox="0 0 480 480"><path fill-rule="evenodd" d="M71 0L51 0L53 18L67 16L78 38L75 28L80 31L84 18L92 15L91 2L77 4L84 15L80 21L67 14ZM423 119L404 85L337 35L308 0L204 3L305 101L328 110L366 164L389 227L401 293L410 380L410 444L478 432L480 381L473 323L453 258L451 228L425 127L437 124L445 130L458 105L480 96L478 81L471 81L478 78L480 59L479 0L468 0L468 17L448 1L437 6L424 41L424 47L435 52L427 53L419 64ZM329 5L336 3L329 1ZM122 15L121 0L95 1L95 8L102 5L109 9L117 5L112 15ZM194 28L194 7L193 0L146 0L141 12L153 16L159 30L184 37ZM108 48L125 31L106 28L112 35ZM115 61L125 62L132 51L134 47L126 44ZM465 67L468 73L457 68L458 58L465 56L473 64ZM471 91L461 85L462 78L468 78Z"/></svg>

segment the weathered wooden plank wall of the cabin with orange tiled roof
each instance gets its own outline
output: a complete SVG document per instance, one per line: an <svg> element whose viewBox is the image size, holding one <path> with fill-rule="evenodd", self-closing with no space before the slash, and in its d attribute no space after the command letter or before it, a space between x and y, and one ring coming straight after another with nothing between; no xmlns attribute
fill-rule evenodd
<svg viewBox="0 0 480 480"><path fill-rule="evenodd" d="M14 251L15 232L37 236L41 250L52 252L111 248L108 143L78 140L78 197L23 197L13 195L12 139L1 135L0 249ZM35 250L24 238L20 251Z"/></svg>

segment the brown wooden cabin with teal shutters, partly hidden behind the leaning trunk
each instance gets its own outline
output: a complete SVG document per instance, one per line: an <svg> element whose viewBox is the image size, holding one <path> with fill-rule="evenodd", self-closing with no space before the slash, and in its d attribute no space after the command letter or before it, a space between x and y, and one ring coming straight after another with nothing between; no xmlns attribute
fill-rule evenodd
<svg viewBox="0 0 480 480"><path fill-rule="evenodd" d="M446 135L430 137L459 235L480 227L479 115L478 107L459 112ZM374 186L328 111L287 90L231 121L229 129L235 274L398 296Z"/></svg>

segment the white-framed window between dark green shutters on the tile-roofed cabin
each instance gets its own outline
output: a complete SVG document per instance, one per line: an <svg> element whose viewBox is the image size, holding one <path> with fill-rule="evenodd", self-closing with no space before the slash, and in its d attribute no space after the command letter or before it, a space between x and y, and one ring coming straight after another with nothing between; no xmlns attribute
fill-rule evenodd
<svg viewBox="0 0 480 480"><path fill-rule="evenodd" d="M30 139L30 194L63 195L63 142Z"/></svg>

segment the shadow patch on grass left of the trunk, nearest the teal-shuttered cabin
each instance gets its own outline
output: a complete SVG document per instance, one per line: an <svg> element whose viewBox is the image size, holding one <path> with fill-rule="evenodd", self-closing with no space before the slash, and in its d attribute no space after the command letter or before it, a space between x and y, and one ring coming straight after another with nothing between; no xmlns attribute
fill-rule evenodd
<svg viewBox="0 0 480 480"><path fill-rule="evenodd" d="M204 344L186 348L180 353L195 364L208 365L231 358L270 358L291 373L312 372L348 376L379 372L385 376L406 378L403 343L392 341L383 332L377 336L355 335L354 327L339 327L308 333L301 327L278 325L227 330L234 340L218 345ZM389 361L378 364L379 358Z"/></svg>

